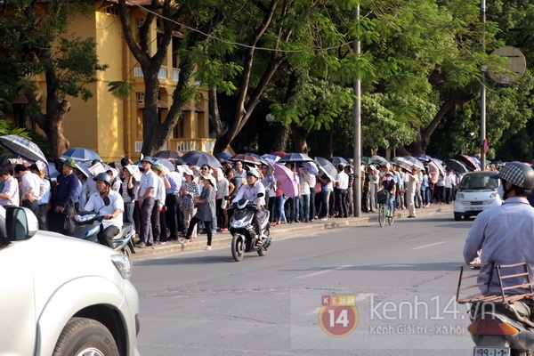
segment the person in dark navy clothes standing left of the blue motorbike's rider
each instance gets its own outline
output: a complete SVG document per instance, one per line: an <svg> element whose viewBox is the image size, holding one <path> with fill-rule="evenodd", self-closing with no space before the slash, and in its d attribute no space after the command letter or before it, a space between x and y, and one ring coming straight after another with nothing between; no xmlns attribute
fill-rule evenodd
<svg viewBox="0 0 534 356"><path fill-rule="evenodd" d="M73 219L77 201L77 190L80 185L80 181L74 173L76 168L74 159L67 158L63 161L63 167L61 169L63 174L58 177L53 204L55 231L68 236L72 236L74 231Z"/></svg>

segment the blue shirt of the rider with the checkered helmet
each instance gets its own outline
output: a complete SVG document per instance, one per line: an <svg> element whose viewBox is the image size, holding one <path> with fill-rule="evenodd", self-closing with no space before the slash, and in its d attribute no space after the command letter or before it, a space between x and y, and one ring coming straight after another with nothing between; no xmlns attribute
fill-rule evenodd
<svg viewBox="0 0 534 356"><path fill-rule="evenodd" d="M530 276L534 276L534 207L526 198L507 198L502 206L495 206L479 214L465 240L464 259L470 263L481 249L481 262L514 264L526 262ZM481 271L490 271L482 267ZM506 268L503 274L521 273L522 268ZM488 276L479 278L487 282ZM522 279L503 279L506 286L524 283ZM500 294L497 272L493 274L490 294ZM485 287L481 287L485 291ZM506 294L527 293L526 288L507 290Z"/></svg>

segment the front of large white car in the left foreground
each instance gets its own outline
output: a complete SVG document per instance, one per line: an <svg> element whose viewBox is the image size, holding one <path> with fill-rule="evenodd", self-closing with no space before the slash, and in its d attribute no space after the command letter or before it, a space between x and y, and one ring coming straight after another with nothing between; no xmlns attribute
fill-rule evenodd
<svg viewBox="0 0 534 356"><path fill-rule="evenodd" d="M139 355L125 255L37 231L30 210L0 206L0 271L0 355Z"/></svg>

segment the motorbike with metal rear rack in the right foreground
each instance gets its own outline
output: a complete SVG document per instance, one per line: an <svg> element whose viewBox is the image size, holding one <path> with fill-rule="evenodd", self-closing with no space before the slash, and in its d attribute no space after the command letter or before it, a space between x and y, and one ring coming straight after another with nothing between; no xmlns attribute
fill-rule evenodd
<svg viewBox="0 0 534 356"><path fill-rule="evenodd" d="M478 272L465 273L468 269ZM498 286L495 286L495 283L481 283L484 276L489 276L487 279L490 281L494 280L494 277L497 278ZM477 279L477 283L462 286L465 280L472 278ZM480 293L461 296L465 290L471 288L479 288ZM506 292L513 288L524 288L528 291L530 289L530 293L507 295ZM499 289L497 293L495 289ZM467 331L475 344L473 355L534 355L534 323L530 320L530 303L533 296L527 263L476 263L463 266L458 281L457 303L467 303L471 306L469 314L472 322Z"/></svg>

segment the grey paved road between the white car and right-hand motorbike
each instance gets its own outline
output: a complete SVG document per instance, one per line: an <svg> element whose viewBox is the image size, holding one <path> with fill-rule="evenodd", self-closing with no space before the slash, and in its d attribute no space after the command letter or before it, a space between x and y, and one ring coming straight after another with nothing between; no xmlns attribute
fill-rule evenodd
<svg viewBox="0 0 534 356"><path fill-rule="evenodd" d="M134 262L142 355L470 355L454 302L471 222L449 213L278 239L233 262L228 247ZM355 295L358 323L329 336L323 295ZM336 309L325 325L355 320ZM336 314L337 313L337 314Z"/></svg>

